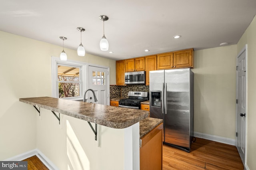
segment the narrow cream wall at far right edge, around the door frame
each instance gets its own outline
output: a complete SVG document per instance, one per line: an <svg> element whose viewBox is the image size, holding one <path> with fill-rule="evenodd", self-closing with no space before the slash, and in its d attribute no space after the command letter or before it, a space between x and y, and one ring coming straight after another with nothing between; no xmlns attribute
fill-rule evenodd
<svg viewBox="0 0 256 170"><path fill-rule="evenodd" d="M256 169L256 16L237 43L237 54L248 44L247 72L247 161L250 170Z"/></svg>

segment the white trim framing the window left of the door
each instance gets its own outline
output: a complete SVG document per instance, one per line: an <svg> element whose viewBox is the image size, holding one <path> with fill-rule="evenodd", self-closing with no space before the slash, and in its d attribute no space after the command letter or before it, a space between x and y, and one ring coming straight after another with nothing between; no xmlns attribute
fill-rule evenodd
<svg viewBox="0 0 256 170"><path fill-rule="evenodd" d="M54 57L52 56L52 97L54 98L59 98L58 97L58 67L57 64L63 64L63 65L74 65L81 67L81 81L82 81L82 93L85 91L87 82L85 80L87 79L87 69L88 69L88 64L81 62L81 61L72 61L72 60L67 60L67 61L61 61L60 57ZM62 99L70 99L70 100L83 100L83 94L80 97L68 97L68 98L62 98Z"/></svg>

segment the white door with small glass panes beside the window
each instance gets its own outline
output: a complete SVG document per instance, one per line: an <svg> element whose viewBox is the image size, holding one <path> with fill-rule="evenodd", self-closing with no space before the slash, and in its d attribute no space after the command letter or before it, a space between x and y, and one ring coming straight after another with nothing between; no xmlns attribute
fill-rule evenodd
<svg viewBox="0 0 256 170"><path fill-rule="evenodd" d="M88 91L88 102L108 105L108 69L102 67L89 66L89 89L95 91L95 95L98 99L94 102L93 94Z"/></svg>

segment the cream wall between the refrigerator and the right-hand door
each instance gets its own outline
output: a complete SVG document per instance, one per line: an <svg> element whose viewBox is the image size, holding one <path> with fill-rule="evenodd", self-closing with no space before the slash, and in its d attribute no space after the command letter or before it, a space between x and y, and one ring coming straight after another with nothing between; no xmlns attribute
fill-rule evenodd
<svg viewBox="0 0 256 170"><path fill-rule="evenodd" d="M236 45L194 51L194 131L236 139Z"/></svg>

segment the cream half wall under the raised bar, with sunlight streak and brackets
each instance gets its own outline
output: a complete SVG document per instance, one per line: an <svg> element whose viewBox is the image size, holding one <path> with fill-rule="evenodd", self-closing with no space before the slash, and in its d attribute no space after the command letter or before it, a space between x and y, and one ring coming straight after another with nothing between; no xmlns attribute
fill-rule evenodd
<svg viewBox="0 0 256 170"><path fill-rule="evenodd" d="M24 105L27 104L24 103ZM37 148L58 169L124 169L126 148L124 147L124 136L126 135L126 128L115 129L101 126L100 139L98 138L101 144L98 147L98 141L94 140L94 133L86 121L62 114L60 115L60 120L59 125L52 112L46 109L41 109L40 117L36 116ZM95 127L93 123L92 126ZM128 130L131 131L130 128ZM132 138L132 132L127 137ZM130 160L130 162L132 160L127 157L126 159Z"/></svg>

